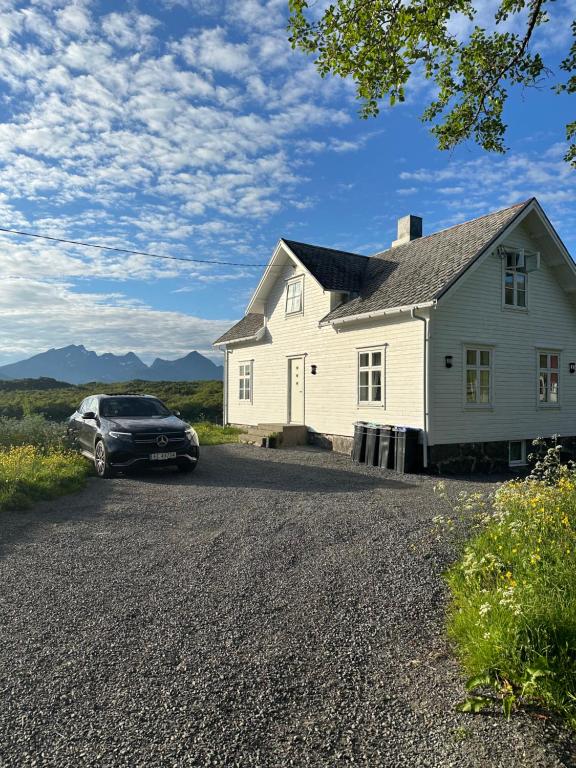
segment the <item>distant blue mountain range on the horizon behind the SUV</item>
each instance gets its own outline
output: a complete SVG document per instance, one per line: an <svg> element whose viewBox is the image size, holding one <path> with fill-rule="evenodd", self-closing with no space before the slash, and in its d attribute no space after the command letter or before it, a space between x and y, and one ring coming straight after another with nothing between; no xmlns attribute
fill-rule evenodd
<svg viewBox="0 0 576 768"><path fill-rule="evenodd" d="M34 379L41 376L84 384L88 381L206 381L222 379L222 366L199 352L189 352L178 360L157 357L146 365L134 352L98 355L82 344L49 349L18 363L0 366L0 379Z"/></svg>

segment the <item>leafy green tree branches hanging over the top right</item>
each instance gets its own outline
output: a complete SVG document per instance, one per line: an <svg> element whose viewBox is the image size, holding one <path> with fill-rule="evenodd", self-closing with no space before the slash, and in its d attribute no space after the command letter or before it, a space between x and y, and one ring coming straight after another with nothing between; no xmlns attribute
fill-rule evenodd
<svg viewBox="0 0 576 768"><path fill-rule="evenodd" d="M422 115L440 149L472 138L488 151L503 152L504 106L510 86L539 86L553 73L548 55L534 44L550 18L560 21L562 3L499 0L492 23L477 23L488 3L473 0L335 0L321 13L310 0L289 0L290 42L313 54L316 67L351 77L362 115L378 114L379 102L403 102L422 76L435 96ZM558 15L557 15L558 14ZM463 34L463 30L469 31ZM576 92L576 22L573 42L560 68L567 73L555 90ZM573 143L566 160L576 164L576 122L566 126Z"/></svg>

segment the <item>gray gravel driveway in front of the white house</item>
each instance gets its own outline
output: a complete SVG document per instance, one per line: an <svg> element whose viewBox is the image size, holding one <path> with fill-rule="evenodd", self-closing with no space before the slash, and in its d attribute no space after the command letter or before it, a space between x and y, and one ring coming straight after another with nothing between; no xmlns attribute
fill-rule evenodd
<svg viewBox="0 0 576 768"><path fill-rule="evenodd" d="M4 514L0 766L576 765L454 712L432 485L219 446Z"/></svg>

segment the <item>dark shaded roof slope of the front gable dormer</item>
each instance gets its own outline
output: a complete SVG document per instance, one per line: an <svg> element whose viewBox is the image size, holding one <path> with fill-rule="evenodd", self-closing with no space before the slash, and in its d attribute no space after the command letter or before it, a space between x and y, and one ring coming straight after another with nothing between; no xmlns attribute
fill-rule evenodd
<svg viewBox="0 0 576 768"><path fill-rule="evenodd" d="M362 287L368 256L282 240L325 290L356 292Z"/></svg>

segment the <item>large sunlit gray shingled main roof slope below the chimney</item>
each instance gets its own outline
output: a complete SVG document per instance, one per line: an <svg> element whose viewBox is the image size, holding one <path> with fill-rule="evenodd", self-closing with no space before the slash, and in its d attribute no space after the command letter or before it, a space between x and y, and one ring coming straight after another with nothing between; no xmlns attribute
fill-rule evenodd
<svg viewBox="0 0 576 768"><path fill-rule="evenodd" d="M334 309L321 322L440 298L530 202L372 256L360 295Z"/></svg>

